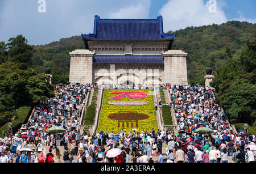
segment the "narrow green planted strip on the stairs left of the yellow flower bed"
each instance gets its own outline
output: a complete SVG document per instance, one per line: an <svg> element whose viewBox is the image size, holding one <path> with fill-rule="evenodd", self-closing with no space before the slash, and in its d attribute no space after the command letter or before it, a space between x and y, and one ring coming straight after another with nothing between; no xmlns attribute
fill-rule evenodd
<svg viewBox="0 0 256 174"><path fill-rule="evenodd" d="M92 125L95 112L96 112L96 100L97 100L97 88L94 88L92 101L90 102L89 107L86 109L86 114L84 118L84 125Z"/></svg>

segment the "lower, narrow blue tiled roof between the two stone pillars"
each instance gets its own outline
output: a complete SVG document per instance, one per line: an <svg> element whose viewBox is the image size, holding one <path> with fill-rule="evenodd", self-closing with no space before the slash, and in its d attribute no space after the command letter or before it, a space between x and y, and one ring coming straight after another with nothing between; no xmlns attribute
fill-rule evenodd
<svg viewBox="0 0 256 174"><path fill-rule="evenodd" d="M162 55L94 55L93 64L164 64Z"/></svg>

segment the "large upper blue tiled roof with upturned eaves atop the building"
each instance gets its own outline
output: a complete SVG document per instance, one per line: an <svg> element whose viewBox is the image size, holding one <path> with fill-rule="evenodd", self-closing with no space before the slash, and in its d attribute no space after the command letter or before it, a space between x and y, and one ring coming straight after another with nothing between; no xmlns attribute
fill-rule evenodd
<svg viewBox="0 0 256 174"><path fill-rule="evenodd" d="M83 35L86 41L168 41L175 35L163 33L163 17L157 19L100 19L95 16L94 33Z"/></svg>

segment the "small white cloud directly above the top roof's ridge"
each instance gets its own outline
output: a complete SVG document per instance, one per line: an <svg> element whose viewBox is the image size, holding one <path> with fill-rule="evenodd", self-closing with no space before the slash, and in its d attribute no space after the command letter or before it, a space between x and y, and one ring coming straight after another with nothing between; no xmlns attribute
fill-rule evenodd
<svg viewBox="0 0 256 174"><path fill-rule="evenodd" d="M151 0L142 0L135 5L124 5L121 9L109 14L112 19L145 19L150 13Z"/></svg>

